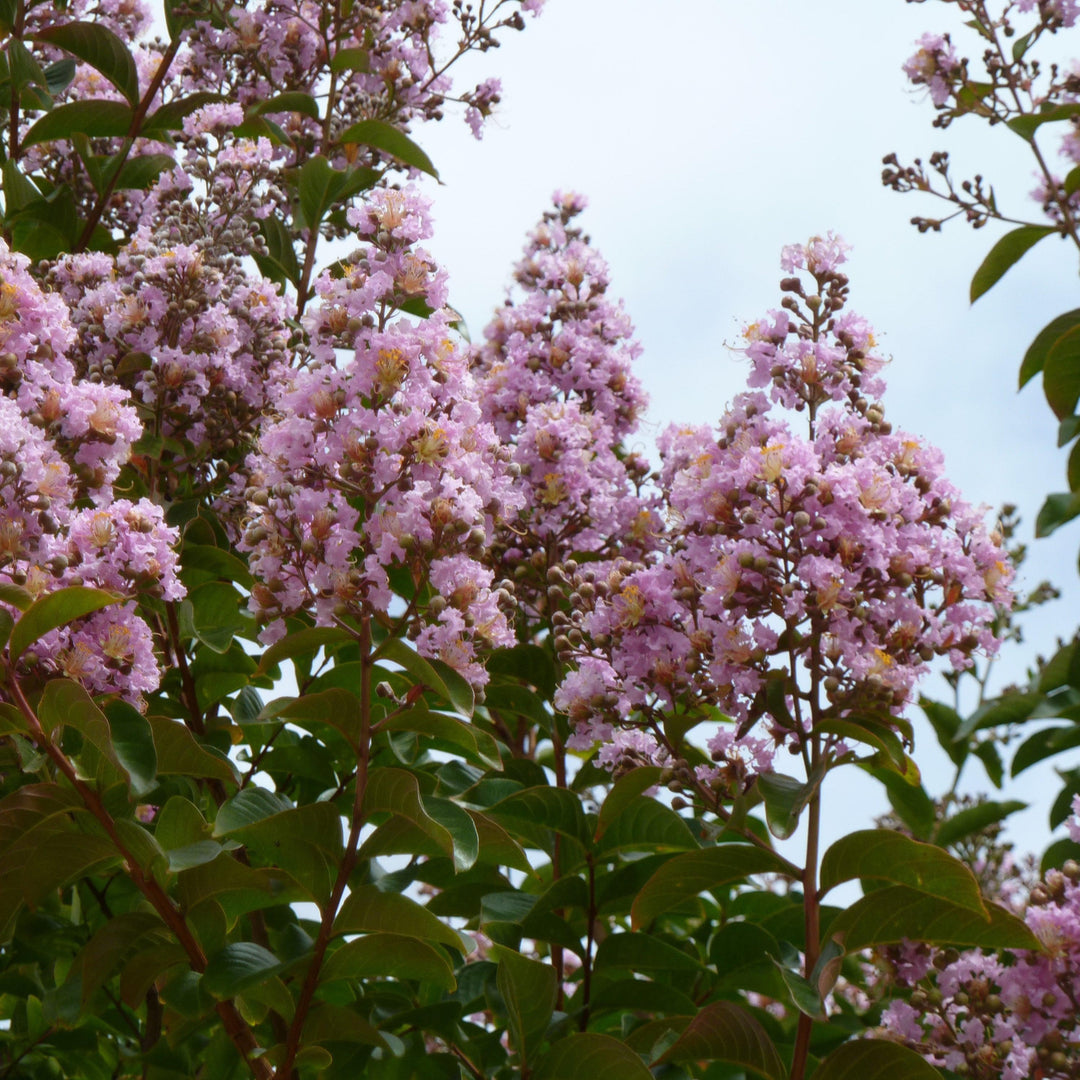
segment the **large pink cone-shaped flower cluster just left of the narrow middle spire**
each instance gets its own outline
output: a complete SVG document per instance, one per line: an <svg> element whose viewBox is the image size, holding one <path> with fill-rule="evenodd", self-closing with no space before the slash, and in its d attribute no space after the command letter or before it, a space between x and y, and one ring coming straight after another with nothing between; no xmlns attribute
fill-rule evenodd
<svg viewBox="0 0 1080 1080"><path fill-rule="evenodd" d="M389 622L391 575L406 571L400 618L418 648L482 685L477 650L513 635L510 594L478 556L522 496L442 308L444 276L415 246L430 235L428 203L379 190L350 220L367 242L319 280L310 359L276 389L247 459L252 608L266 642L306 610L321 625ZM409 301L438 310L413 321Z"/></svg>

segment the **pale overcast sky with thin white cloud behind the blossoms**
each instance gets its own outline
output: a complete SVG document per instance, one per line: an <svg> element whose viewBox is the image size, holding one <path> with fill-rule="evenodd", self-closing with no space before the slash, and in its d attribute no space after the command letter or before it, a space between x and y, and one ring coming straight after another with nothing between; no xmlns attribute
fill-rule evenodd
<svg viewBox="0 0 1080 1080"><path fill-rule="evenodd" d="M720 415L745 375L725 342L779 306L780 248L836 230L853 245L851 306L893 359L889 419L943 448L969 501L1013 501L1030 530L1044 495L1066 486L1064 456L1041 387L1017 395L1016 372L1035 334L1077 306L1075 254L1049 239L971 308L971 275L1004 228L919 235L910 217L943 204L880 184L883 154L947 148L958 177L981 172L1001 205L1038 213L1018 137L972 118L936 131L924 92L906 85L915 40L957 22L950 5L903 0L548 0L458 75L502 79L484 140L457 119L416 133L444 180L429 246L451 302L477 337L552 191L586 194L584 227L645 349L645 447L666 423ZM1061 46L1080 55L1072 35ZM956 41L978 55L970 31ZM1068 598L1032 622L1030 648L1007 654L1007 681L1080 621L1078 545L1078 526L1034 545L1028 582L1052 576ZM986 786L978 768L971 780ZM1021 798L1058 787L1049 767L1025 775ZM947 783L931 771L928 786ZM1045 802L1026 815L1031 847L1044 828Z"/></svg>

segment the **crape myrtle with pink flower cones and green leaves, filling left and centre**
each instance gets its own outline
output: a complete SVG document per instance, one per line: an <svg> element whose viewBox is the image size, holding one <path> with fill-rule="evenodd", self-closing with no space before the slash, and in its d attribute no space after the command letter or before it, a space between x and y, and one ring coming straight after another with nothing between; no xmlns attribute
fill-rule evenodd
<svg viewBox="0 0 1080 1080"><path fill-rule="evenodd" d="M912 758L1013 571L846 245L656 472L580 197L449 307L416 136L540 6L0 0L0 1077L932 1078L929 972L1072 994L1075 865L995 903ZM851 769L904 827L824 849Z"/></svg>

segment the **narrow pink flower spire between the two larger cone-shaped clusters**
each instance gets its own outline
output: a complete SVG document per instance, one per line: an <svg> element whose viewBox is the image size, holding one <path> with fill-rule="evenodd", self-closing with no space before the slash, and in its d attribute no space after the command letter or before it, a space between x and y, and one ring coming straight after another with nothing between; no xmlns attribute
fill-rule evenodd
<svg viewBox="0 0 1080 1080"><path fill-rule="evenodd" d="M607 264L575 224L584 205L556 193L516 267L521 296L497 312L476 357L484 416L513 447L527 491L492 565L513 571L518 598L540 612L549 571L572 553L640 555L661 530L640 491L648 464L623 445L646 404L631 370L639 349L607 295Z"/></svg>

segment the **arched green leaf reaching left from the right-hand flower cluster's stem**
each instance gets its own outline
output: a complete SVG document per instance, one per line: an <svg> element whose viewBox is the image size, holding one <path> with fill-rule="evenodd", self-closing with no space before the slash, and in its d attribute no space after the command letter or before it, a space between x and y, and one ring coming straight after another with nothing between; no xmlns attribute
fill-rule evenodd
<svg viewBox="0 0 1080 1080"><path fill-rule="evenodd" d="M634 929L699 893L741 881L751 874L785 874L798 878L787 860L765 848L724 843L675 855L658 869L637 894L632 908Z"/></svg>

